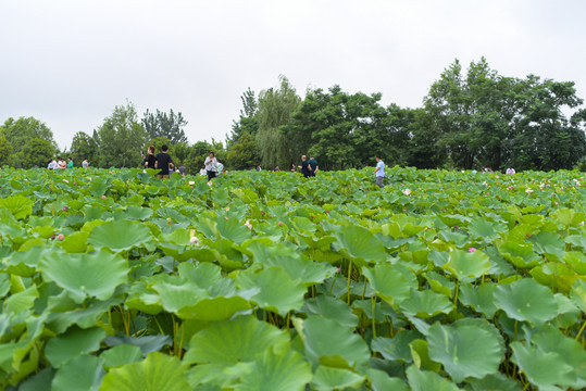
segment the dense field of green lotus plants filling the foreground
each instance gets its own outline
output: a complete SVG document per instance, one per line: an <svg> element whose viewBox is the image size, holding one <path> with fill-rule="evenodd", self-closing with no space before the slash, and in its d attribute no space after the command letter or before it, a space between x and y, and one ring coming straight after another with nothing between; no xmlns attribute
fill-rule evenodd
<svg viewBox="0 0 586 391"><path fill-rule="evenodd" d="M0 172L0 389L586 388L578 172Z"/></svg>

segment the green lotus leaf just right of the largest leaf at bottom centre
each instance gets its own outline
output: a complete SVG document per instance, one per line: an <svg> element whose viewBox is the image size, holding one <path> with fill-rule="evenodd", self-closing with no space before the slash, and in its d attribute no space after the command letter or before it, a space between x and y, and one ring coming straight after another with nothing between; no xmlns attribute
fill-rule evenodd
<svg viewBox="0 0 586 391"><path fill-rule="evenodd" d="M296 319L297 325L300 324ZM301 323L306 357L317 364L341 368L354 368L367 364L369 346L349 328L340 327L336 320L310 316Z"/></svg>

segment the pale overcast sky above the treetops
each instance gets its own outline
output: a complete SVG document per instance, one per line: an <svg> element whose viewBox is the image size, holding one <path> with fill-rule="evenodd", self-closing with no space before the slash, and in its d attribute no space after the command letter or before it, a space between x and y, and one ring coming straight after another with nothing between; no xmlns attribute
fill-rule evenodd
<svg viewBox="0 0 586 391"><path fill-rule="evenodd" d="M182 112L189 141L224 140L250 87L285 75L420 106L456 58L576 83L582 0L0 0L0 122L34 116L61 148L132 101Z"/></svg>

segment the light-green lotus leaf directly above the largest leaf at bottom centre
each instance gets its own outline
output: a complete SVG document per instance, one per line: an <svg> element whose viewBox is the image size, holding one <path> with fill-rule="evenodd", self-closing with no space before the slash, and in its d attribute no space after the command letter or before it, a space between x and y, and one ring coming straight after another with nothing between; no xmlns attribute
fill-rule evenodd
<svg viewBox="0 0 586 391"><path fill-rule="evenodd" d="M307 290L300 280L291 279L283 267L276 266L258 274L239 273L236 285L242 289L260 289L250 300L257 302L261 308L277 312L282 316L291 310L301 308Z"/></svg>

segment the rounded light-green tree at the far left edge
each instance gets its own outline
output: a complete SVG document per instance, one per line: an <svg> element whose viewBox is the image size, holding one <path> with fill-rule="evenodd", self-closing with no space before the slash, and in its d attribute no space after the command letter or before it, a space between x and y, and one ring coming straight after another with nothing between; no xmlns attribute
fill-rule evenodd
<svg viewBox="0 0 586 391"><path fill-rule="evenodd" d="M57 150L57 142L51 129L34 117L8 118L4 125L0 126L0 135L3 135L13 148L12 161L15 167L26 167L23 149L35 138L47 140L52 146L53 151Z"/></svg>

